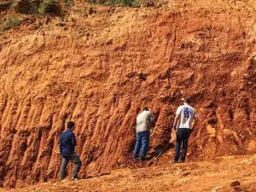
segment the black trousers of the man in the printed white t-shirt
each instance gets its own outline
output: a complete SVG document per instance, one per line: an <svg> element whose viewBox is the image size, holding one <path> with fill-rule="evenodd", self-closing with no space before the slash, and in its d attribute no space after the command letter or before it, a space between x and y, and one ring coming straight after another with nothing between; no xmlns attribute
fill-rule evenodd
<svg viewBox="0 0 256 192"><path fill-rule="evenodd" d="M174 161L179 160L180 156L180 148L183 144L183 151L181 154L180 161L184 162L186 159L187 149L188 149L188 143L189 143L189 136L190 136L191 130L186 128L178 128L177 129L177 141L176 141L176 148L175 148L175 157Z"/></svg>

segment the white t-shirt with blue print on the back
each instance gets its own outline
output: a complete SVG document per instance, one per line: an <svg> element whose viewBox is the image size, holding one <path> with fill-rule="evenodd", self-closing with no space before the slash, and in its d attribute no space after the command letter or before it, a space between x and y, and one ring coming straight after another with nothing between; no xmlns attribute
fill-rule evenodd
<svg viewBox="0 0 256 192"><path fill-rule="evenodd" d="M177 128L192 128L192 120L197 117L195 108L192 108L188 104L184 104L177 108L176 114L179 114L179 120L177 123Z"/></svg>

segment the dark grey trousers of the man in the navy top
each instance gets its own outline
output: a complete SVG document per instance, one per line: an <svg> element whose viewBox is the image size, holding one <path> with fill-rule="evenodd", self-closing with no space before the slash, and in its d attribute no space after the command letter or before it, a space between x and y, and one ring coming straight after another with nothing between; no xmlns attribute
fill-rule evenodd
<svg viewBox="0 0 256 192"><path fill-rule="evenodd" d="M73 171L73 177L78 177L79 169L82 165L81 160L79 159L78 154L73 153L70 156L67 157L62 157L62 162L61 162L61 179L64 179L66 177L66 172L67 172L67 164L68 161L72 160L75 164L75 168Z"/></svg>

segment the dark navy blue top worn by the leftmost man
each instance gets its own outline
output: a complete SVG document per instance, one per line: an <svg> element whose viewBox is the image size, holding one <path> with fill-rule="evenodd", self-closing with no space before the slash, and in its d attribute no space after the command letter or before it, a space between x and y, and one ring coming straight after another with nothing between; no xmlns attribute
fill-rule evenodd
<svg viewBox="0 0 256 192"><path fill-rule="evenodd" d="M74 148L77 145L76 137L72 130L67 130L61 133L60 150L61 156L67 157L74 153Z"/></svg>

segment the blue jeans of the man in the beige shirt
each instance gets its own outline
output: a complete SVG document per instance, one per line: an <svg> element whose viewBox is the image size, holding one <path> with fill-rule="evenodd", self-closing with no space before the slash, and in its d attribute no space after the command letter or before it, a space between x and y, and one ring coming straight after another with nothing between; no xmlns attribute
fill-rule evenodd
<svg viewBox="0 0 256 192"><path fill-rule="evenodd" d="M132 157L134 158L138 157L140 148L142 148L140 157L144 158L146 156L148 152L148 147L149 147L149 138L150 138L150 131L137 132L136 144L135 144Z"/></svg>

